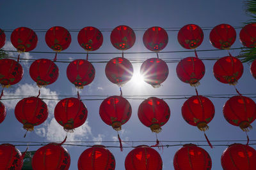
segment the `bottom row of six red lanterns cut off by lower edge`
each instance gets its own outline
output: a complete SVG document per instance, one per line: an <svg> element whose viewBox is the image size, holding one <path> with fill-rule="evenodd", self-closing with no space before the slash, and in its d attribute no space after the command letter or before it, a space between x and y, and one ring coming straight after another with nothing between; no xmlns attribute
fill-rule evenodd
<svg viewBox="0 0 256 170"><path fill-rule="evenodd" d="M49 143L36 150L32 158L33 169L67 170L70 166L70 155L61 146L63 143ZM25 153L21 154L14 145L0 145L0 168L20 170ZM154 148L141 145L127 154L124 165L126 170L161 170L163 161ZM248 145L234 143L222 153L221 166L225 170L256 169L256 150ZM78 170L114 170L115 157L105 146L94 145L81 153L77 167ZM193 144L186 144L175 153L173 167L175 170L210 170L212 160L209 153L203 148Z"/></svg>

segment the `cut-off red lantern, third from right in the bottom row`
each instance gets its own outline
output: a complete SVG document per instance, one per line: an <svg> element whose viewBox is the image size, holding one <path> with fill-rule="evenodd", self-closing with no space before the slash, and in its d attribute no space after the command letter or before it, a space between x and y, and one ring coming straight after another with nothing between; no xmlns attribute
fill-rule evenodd
<svg viewBox="0 0 256 170"><path fill-rule="evenodd" d="M159 153L148 146L138 146L125 158L126 170L161 170L163 161Z"/></svg>

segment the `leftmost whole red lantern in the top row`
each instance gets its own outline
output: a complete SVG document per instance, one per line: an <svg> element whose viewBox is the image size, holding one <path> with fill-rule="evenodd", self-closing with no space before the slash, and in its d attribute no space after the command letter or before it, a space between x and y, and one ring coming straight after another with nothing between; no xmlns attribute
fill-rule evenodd
<svg viewBox="0 0 256 170"><path fill-rule="evenodd" d="M19 27L12 32L11 41L19 52L30 52L36 48L38 38L32 29Z"/></svg>

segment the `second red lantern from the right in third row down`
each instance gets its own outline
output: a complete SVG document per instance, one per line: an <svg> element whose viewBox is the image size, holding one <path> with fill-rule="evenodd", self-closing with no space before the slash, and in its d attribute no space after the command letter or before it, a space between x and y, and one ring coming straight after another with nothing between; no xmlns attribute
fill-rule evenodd
<svg viewBox="0 0 256 170"><path fill-rule="evenodd" d="M212 102L204 96L192 96L181 108L182 117L189 125L197 126L200 131L206 131L207 124L214 117L215 109Z"/></svg>

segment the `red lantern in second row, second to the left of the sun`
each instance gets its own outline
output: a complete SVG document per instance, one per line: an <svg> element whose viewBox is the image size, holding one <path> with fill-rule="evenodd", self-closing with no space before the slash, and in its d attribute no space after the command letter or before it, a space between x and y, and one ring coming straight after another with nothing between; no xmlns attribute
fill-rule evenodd
<svg viewBox="0 0 256 170"><path fill-rule="evenodd" d="M68 64L67 77L76 88L83 89L84 85L92 83L95 69L88 60L77 59Z"/></svg>

